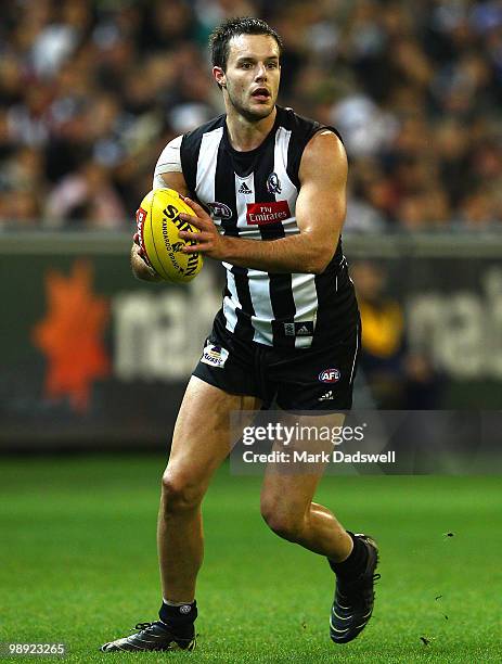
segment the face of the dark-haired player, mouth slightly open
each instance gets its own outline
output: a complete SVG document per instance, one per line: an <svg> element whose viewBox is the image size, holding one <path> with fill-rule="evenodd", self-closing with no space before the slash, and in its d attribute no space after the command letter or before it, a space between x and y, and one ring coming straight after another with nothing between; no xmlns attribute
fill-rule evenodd
<svg viewBox="0 0 502 664"><path fill-rule="evenodd" d="M219 69L221 78L217 80L226 86L237 113L248 120L260 120L270 115L278 99L279 46L269 35L239 35L229 46L227 72Z"/></svg>

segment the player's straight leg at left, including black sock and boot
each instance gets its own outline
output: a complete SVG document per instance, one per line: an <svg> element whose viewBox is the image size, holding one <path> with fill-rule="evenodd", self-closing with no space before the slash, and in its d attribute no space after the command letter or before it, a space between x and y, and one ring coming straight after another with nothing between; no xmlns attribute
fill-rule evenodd
<svg viewBox="0 0 502 664"><path fill-rule="evenodd" d="M102 651L195 647L195 582L204 550L201 503L210 478L230 451L231 411L260 406L255 397L227 394L195 376L190 380L162 482L157 545L166 601L160 620L139 623L140 631L105 643Z"/></svg>

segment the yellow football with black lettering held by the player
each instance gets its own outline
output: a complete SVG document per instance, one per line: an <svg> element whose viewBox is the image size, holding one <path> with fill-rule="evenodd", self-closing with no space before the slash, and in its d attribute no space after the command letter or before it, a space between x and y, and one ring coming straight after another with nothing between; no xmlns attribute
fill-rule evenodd
<svg viewBox="0 0 502 664"><path fill-rule="evenodd" d="M202 254L184 254L185 244L195 244L179 237L180 230L198 232L180 213L193 215L180 194L172 189L154 189L141 201L136 214L140 246L159 277L171 283L192 281L202 269Z"/></svg>

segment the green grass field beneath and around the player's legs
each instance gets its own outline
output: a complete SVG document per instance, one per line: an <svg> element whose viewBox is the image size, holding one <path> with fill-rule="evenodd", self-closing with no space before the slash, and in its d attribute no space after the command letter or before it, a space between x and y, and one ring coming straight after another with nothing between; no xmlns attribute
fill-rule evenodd
<svg viewBox="0 0 502 664"><path fill-rule="evenodd" d="M205 502L197 650L98 652L156 617L163 465L146 456L1 461L0 641L65 642L65 661L91 663L502 661L500 477L324 480L318 499L373 534L382 559L374 617L334 646L325 561L271 534L259 478L228 467Z"/></svg>

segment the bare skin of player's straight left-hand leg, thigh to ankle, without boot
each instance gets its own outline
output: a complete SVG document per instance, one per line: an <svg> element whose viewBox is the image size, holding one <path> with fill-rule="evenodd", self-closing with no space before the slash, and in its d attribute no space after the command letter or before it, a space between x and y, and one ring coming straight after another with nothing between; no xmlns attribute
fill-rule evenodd
<svg viewBox="0 0 502 664"><path fill-rule="evenodd" d="M163 597L193 601L203 560L201 503L230 451L230 412L255 410L255 397L230 395L192 376L163 476L157 545Z"/></svg>

